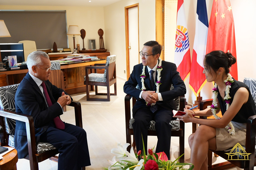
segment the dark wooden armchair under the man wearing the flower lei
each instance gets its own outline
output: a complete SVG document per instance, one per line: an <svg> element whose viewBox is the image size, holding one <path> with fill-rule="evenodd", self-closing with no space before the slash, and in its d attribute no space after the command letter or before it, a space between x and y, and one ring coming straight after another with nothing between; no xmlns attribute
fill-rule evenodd
<svg viewBox="0 0 256 170"><path fill-rule="evenodd" d="M136 102L136 98L133 98L131 95L125 96L125 126L126 126L126 143L130 143L131 145L127 147L127 151L130 151L131 146L135 148L136 143L133 135L132 123L134 122L134 118L131 118L131 107L130 100L132 98L132 106ZM180 96L174 99L177 111L183 111L185 108L186 99L185 96ZM185 149L185 123L183 121L171 120L170 124L172 125L172 137L177 136L180 140L180 155L184 154ZM133 135L133 142L131 141L131 135ZM148 136L157 136L155 130L155 121L150 122L150 128L148 129ZM184 163L184 155L180 158L180 162Z"/></svg>

